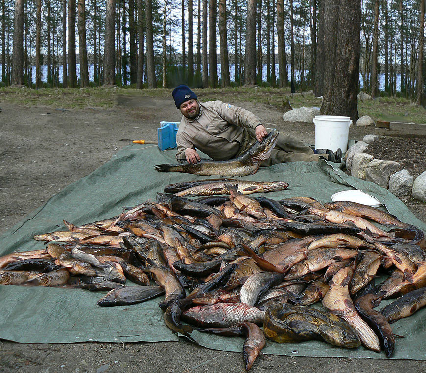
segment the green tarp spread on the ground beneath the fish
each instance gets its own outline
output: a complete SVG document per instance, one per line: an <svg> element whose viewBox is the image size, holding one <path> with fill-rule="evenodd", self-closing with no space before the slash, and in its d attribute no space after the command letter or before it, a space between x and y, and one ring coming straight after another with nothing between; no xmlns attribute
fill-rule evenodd
<svg viewBox="0 0 426 373"><path fill-rule="evenodd" d="M123 206L135 206L150 198L170 183L194 180L199 176L182 173L158 173L153 166L175 163L173 150L161 152L156 146L131 145L89 176L67 186L42 207L0 238L0 255L44 247L34 241L35 234L64 228L62 220L84 224L118 215ZM217 176L212 176L214 178ZM202 178L208 178L202 176ZM376 184L347 176L328 162L287 163L261 168L248 180L284 180L290 188L268 193L281 199L291 196L314 197L331 201L331 195L355 187L384 203L390 213L402 221L426 230L394 195ZM22 343L159 342L177 341L166 328L158 299L142 304L98 307L103 295L80 289L0 286L0 338ZM386 304L386 303L385 303ZM393 324L398 339L395 358L426 359L425 310ZM243 340L203 334L192 336L202 346L223 351L241 351ZM363 347L339 349L323 342L278 344L268 341L264 353L299 356L385 357Z"/></svg>

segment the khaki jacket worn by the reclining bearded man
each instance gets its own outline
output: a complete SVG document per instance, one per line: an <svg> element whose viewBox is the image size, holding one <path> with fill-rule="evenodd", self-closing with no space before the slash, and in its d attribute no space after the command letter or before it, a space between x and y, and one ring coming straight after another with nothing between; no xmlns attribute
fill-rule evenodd
<svg viewBox="0 0 426 373"><path fill-rule="evenodd" d="M200 115L193 120L184 116L176 134L176 159L185 160L185 149L193 148L214 160L233 158L244 141L246 128L255 129L260 119L238 106L222 101L199 103Z"/></svg>

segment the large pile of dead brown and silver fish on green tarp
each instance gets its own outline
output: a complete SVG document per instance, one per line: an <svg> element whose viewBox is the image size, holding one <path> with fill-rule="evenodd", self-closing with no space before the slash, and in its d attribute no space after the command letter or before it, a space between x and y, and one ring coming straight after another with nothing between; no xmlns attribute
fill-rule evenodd
<svg viewBox="0 0 426 373"><path fill-rule="evenodd" d="M424 232L353 202L248 195L287 187L234 179L168 185L119 216L64 221L68 231L34 236L47 247L1 257L0 284L108 291L101 307L164 295L159 306L173 332L244 336L247 370L266 338L362 344L390 357L389 324L426 304ZM375 309L389 298L397 299Z"/></svg>

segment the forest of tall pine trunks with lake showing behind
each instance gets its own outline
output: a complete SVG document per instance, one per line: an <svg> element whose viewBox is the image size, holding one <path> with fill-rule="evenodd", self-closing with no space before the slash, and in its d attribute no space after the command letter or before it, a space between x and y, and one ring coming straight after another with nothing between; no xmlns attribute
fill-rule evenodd
<svg viewBox="0 0 426 373"><path fill-rule="evenodd" d="M335 112L362 88L424 106L425 2L0 0L1 85L337 89Z"/></svg>

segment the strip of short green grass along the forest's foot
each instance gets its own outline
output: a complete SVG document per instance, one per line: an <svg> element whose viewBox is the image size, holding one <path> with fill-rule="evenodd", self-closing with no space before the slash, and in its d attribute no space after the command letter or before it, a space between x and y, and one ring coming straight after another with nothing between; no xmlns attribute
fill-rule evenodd
<svg viewBox="0 0 426 373"><path fill-rule="evenodd" d="M312 93L290 94L290 88L272 87L230 87L218 89L194 89L201 101L222 100L225 102L253 102L270 105L278 110L286 111L285 101L288 99L293 108L302 106L321 106L321 99ZM134 89L134 88L75 88L75 89L29 89L0 88L0 102L8 101L26 106L51 106L53 108L87 108L117 106L117 95L145 96L169 99L172 89ZM376 100L358 101L359 116L369 115L376 120L425 123L426 111L422 107L411 105L405 98L381 97Z"/></svg>

